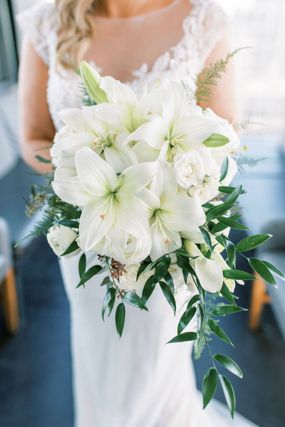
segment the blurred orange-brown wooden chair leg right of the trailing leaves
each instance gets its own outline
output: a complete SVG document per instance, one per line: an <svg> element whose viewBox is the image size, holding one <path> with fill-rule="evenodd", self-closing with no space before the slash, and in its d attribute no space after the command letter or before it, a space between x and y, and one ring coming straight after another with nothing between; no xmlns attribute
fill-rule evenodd
<svg viewBox="0 0 285 427"><path fill-rule="evenodd" d="M256 277L259 277L255 274ZM269 304L270 296L266 292L266 284L262 278L253 281L253 290L250 301L249 328L256 332L259 329L264 304Z"/></svg>

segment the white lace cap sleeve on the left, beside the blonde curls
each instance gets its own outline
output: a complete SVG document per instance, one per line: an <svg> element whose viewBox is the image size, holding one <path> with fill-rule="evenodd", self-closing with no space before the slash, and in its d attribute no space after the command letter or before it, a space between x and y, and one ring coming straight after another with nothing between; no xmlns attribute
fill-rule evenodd
<svg viewBox="0 0 285 427"><path fill-rule="evenodd" d="M56 10L52 3L40 3L16 15L19 28L30 38L38 56L50 62L50 41L56 35Z"/></svg>

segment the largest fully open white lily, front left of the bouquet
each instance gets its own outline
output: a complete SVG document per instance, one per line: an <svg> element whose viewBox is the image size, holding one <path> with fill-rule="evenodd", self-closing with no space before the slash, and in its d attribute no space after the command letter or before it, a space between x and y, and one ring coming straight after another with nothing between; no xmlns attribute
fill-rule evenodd
<svg viewBox="0 0 285 427"><path fill-rule="evenodd" d="M156 163L128 167L118 177L112 167L89 147L75 156L79 181L53 181L55 193L71 205L85 206L79 221L82 250L93 248L112 225L142 238L150 233L147 215L134 194L156 175Z"/></svg>

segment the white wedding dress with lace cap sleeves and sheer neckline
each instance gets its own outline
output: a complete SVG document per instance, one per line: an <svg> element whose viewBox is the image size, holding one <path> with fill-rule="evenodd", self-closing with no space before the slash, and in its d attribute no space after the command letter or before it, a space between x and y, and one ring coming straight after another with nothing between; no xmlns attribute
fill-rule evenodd
<svg viewBox="0 0 285 427"><path fill-rule="evenodd" d="M175 0L138 17L94 20L96 39L86 59L94 59L100 73L128 82L138 93L146 85L152 88L158 79L187 80L193 85L192 77L200 73L227 25L225 13L211 0ZM49 67L47 101L58 130L62 126L58 111L80 108L81 101L76 73L70 70L59 76L54 67L55 7L35 5L18 15L18 23ZM124 76L126 68L129 74ZM238 414L232 421L227 408L216 401L203 411L191 362L193 344L165 345L177 333L186 298L182 292L176 295L175 318L159 287L148 301L149 312L126 307L119 341L115 309L109 318L105 315L105 323L101 317L103 277L95 276L85 289L75 289L78 260L76 256L60 262L71 309L76 427L253 426ZM188 325L188 330L194 329L195 320Z"/></svg>

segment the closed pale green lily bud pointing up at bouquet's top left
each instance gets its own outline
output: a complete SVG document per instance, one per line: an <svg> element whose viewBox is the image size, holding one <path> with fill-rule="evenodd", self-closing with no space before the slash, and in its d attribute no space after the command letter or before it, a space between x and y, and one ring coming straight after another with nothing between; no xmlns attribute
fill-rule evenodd
<svg viewBox="0 0 285 427"><path fill-rule="evenodd" d="M91 67L86 61L80 62L79 65L80 76L82 82L85 85L86 91L91 99L93 99L96 104L101 102L108 102L106 93L100 89L101 76Z"/></svg>

